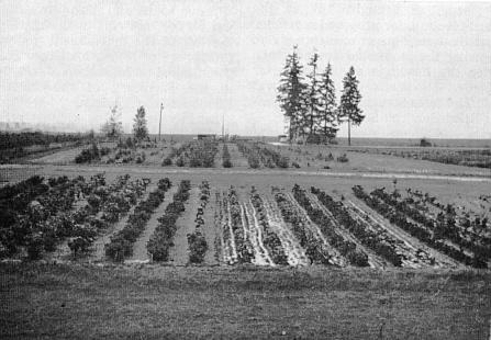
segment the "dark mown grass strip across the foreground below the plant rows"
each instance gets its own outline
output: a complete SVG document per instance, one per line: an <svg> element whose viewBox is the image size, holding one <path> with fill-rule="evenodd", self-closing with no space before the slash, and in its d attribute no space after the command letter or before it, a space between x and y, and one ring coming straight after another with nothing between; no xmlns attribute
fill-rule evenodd
<svg viewBox="0 0 491 340"><path fill-rule="evenodd" d="M488 339L490 272L0 264L2 339Z"/></svg>

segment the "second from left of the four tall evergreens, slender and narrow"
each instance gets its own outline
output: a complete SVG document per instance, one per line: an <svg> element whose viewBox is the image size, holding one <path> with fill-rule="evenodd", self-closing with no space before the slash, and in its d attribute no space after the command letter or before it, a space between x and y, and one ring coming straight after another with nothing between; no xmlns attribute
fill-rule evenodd
<svg viewBox="0 0 491 340"><path fill-rule="evenodd" d="M309 63L309 66L312 67L312 72L308 76L311 80L308 93L309 110L303 122L305 126L304 129L309 132L309 135L311 137L308 138L308 140L313 140L315 126L319 125L321 112L323 110L322 92L320 82L317 80L317 60L319 55L314 53Z"/></svg>

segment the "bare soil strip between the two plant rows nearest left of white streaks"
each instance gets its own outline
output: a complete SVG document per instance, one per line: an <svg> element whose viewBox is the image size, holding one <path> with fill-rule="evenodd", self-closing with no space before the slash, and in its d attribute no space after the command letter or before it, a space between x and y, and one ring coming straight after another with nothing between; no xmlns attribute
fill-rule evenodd
<svg viewBox="0 0 491 340"><path fill-rule="evenodd" d="M194 231L196 214L198 212L200 189L194 186L189 191L189 201L186 203L186 211L177 219L179 228L174 236L174 247L170 249L170 263L175 265L186 265L189 262L188 234Z"/></svg>

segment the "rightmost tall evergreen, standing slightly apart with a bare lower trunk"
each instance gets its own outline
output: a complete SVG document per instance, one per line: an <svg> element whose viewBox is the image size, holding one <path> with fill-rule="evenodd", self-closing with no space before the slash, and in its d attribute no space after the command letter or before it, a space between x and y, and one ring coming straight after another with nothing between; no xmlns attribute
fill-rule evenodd
<svg viewBox="0 0 491 340"><path fill-rule="evenodd" d="M348 122L348 145L351 145L351 124L360 125L365 120L362 111L358 107L361 94L358 91L358 80L355 77L353 66L343 79L343 94L339 103L339 122Z"/></svg>

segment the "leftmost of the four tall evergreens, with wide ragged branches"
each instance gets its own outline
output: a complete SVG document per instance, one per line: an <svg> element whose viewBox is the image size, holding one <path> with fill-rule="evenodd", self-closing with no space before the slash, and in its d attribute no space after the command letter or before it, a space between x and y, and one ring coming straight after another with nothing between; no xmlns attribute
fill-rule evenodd
<svg viewBox="0 0 491 340"><path fill-rule="evenodd" d="M303 117L306 109L306 86L303 83L302 68L297 55L297 46L294 46L293 54L287 57L287 64L281 72L280 86L278 87L279 94L277 97L288 124L290 140L293 140L298 135L304 134Z"/></svg>

